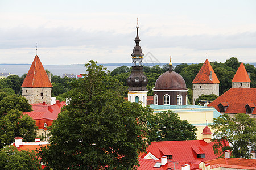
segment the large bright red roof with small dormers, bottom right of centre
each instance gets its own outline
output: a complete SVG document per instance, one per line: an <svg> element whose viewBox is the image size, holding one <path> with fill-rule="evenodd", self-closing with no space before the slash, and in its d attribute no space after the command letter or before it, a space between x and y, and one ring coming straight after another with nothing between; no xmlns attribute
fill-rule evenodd
<svg viewBox="0 0 256 170"><path fill-rule="evenodd" d="M162 148L168 150L172 154L172 161L174 162L191 162L205 161L216 159L218 156L214 155L213 142L207 143L204 140L191 140L191 141L162 141L151 142L151 145L147 148L147 153L155 155L160 159L162 156L166 156L162 152ZM224 146L228 146L228 143L224 143ZM205 154L205 158L197 158L197 154ZM141 156L144 158L147 154Z"/></svg>

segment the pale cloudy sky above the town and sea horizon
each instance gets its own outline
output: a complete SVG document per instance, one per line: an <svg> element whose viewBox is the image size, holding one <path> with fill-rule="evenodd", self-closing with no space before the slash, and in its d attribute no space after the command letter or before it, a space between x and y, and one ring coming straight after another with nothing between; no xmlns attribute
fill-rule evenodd
<svg viewBox="0 0 256 170"><path fill-rule="evenodd" d="M0 63L256 62L256 1L0 0ZM37 44L37 50L36 50Z"/></svg>

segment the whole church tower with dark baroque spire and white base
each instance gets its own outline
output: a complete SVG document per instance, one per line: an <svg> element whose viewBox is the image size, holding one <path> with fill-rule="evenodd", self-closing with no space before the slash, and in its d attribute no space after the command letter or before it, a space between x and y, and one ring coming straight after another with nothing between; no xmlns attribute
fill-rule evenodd
<svg viewBox="0 0 256 170"><path fill-rule="evenodd" d="M131 69L131 75L127 78L128 88L128 101L131 102L142 102L143 106L147 105L147 76L143 73L142 59L144 54L142 53L141 46L139 46L139 25L137 23L137 36L135 38L135 47L133 49L133 54L131 54L133 66Z"/></svg>

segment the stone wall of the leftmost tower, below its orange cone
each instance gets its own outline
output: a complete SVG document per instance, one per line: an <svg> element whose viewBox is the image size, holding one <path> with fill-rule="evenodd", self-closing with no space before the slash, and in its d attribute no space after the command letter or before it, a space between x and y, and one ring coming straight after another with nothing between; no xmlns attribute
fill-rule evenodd
<svg viewBox="0 0 256 170"><path fill-rule="evenodd" d="M28 103L43 103L51 104L52 88L22 88L22 96L28 100Z"/></svg>

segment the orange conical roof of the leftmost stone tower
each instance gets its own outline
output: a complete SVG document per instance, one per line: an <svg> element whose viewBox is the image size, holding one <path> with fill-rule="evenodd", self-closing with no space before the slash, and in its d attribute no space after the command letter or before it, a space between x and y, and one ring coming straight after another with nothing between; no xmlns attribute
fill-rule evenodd
<svg viewBox="0 0 256 170"><path fill-rule="evenodd" d="M27 76L24 79L22 87L52 87L52 83L46 74L46 70L36 55Z"/></svg>

